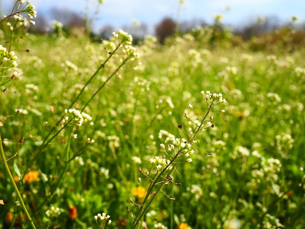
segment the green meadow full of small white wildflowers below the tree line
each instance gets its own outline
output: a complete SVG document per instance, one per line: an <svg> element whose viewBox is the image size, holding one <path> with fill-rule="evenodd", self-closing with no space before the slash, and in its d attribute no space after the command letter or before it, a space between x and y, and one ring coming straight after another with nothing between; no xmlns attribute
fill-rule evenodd
<svg viewBox="0 0 305 229"><path fill-rule="evenodd" d="M305 228L305 48L226 33L0 31L0 228Z"/></svg>

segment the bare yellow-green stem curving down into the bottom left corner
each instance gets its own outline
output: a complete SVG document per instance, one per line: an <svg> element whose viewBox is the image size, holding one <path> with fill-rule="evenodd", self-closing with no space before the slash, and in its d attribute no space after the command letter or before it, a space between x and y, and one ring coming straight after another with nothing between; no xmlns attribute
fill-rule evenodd
<svg viewBox="0 0 305 229"><path fill-rule="evenodd" d="M14 181L14 177L13 177L13 175L12 175L12 173L10 171L10 168L9 168L9 166L7 164L7 161L6 161L6 158L5 158L5 154L4 154L4 150L3 150L3 146L2 146L1 134L0 134L0 154L1 154L1 159L3 160L4 168L5 168L6 172L8 173L9 179L10 179L10 181L11 181L13 187L14 187L14 190L16 191L17 196L19 198L20 205L21 205L22 209L24 210L28 220L30 221L31 227L33 229L36 229L35 224L34 224L32 218L31 218L31 215L28 212L28 210L27 210L27 208L26 208L26 206L25 206L25 204L23 202L22 196L21 196L21 194L19 192L19 189L18 189L18 187L17 187L17 185L16 185L16 183Z"/></svg>

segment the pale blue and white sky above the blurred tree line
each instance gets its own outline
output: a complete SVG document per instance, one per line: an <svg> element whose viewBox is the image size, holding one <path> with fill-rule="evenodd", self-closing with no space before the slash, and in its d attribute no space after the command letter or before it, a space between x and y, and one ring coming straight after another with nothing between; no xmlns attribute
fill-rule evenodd
<svg viewBox="0 0 305 229"><path fill-rule="evenodd" d="M174 20L191 21L193 19L213 21L213 16L222 14L224 23L231 26L244 26L255 21L259 16L275 16L282 21L297 16L305 22L305 0L104 0L104 4L97 4L97 0L89 0L90 11L97 9L95 31L105 25L120 28L132 25L136 19L154 27L165 17ZM0 0L3 8L6 4L16 0ZM50 9L69 9L81 16L84 15L87 0L31 0L37 8L38 15L47 15ZM229 11L227 8L229 7Z"/></svg>

